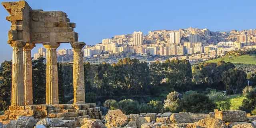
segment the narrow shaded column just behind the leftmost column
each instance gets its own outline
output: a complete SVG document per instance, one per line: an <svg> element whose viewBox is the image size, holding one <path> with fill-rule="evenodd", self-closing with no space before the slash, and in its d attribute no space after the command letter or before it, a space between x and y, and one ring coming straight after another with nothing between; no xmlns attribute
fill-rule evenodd
<svg viewBox="0 0 256 128"><path fill-rule="evenodd" d="M32 43L26 43L23 48L23 60L24 60L24 86L25 86L25 105L33 104L33 86L32 86L32 59L31 50L36 45Z"/></svg>

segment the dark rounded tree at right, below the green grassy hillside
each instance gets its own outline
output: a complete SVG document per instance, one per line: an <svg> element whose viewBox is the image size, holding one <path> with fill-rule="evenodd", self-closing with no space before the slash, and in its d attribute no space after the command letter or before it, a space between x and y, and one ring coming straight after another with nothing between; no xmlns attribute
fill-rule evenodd
<svg viewBox="0 0 256 128"><path fill-rule="evenodd" d="M242 70L229 69L223 72L222 82L226 85L226 90L231 90L236 94L237 90L242 90L246 82L246 73Z"/></svg>

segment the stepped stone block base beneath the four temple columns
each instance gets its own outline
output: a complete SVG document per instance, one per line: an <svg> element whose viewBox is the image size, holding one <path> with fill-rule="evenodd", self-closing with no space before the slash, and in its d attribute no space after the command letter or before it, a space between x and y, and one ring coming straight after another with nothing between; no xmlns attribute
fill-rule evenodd
<svg viewBox="0 0 256 128"><path fill-rule="evenodd" d="M9 110L0 115L0 122L8 124L20 116L33 116L36 119L58 118L60 120L76 120L80 118L101 118L100 107L96 104L54 104L54 105L27 105L9 106Z"/></svg>

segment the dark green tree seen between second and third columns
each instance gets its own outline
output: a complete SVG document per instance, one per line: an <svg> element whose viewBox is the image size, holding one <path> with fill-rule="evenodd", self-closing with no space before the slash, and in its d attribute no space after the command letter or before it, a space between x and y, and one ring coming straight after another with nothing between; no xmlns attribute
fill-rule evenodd
<svg viewBox="0 0 256 128"><path fill-rule="evenodd" d="M46 64L44 62L43 56L32 61L33 104L46 103Z"/></svg>

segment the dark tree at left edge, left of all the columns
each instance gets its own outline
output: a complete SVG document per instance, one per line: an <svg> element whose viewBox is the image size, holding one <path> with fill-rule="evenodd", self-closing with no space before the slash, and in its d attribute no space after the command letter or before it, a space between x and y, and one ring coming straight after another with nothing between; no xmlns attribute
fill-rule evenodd
<svg viewBox="0 0 256 128"><path fill-rule="evenodd" d="M11 100L12 61L4 61L0 67L0 111L8 109Z"/></svg>

